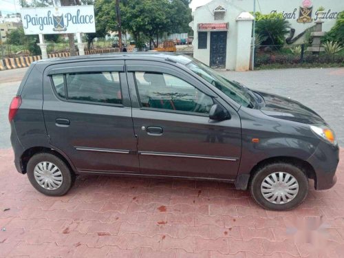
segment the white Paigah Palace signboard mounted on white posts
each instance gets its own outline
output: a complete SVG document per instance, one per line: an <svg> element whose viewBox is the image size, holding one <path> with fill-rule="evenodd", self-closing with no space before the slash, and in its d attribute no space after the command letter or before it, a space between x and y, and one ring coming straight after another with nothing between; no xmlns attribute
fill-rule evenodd
<svg viewBox="0 0 344 258"><path fill-rule="evenodd" d="M23 8L25 34L65 34L96 32L94 6Z"/></svg>

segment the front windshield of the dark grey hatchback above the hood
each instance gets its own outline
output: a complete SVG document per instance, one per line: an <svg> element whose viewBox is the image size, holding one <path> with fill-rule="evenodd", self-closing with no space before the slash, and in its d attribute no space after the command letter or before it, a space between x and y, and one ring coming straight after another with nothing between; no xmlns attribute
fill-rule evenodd
<svg viewBox="0 0 344 258"><path fill-rule="evenodd" d="M248 89L242 87L238 83L224 78L221 74L211 69L211 67L208 67L197 60L193 60L193 62L186 66L189 67L191 71L195 72L195 74L201 76L204 80L207 80L209 83L217 87L217 89L233 99L236 103L239 103L244 107L252 108L254 106L254 100L252 100L252 97L248 94Z"/></svg>

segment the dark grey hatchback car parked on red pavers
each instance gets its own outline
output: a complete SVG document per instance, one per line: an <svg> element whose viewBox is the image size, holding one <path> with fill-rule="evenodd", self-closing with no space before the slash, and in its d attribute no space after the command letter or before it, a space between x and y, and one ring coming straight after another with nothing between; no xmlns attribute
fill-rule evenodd
<svg viewBox="0 0 344 258"><path fill-rule="evenodd" d="M338 144L314 111L164 53L30 65L9 113L15 165L45 195L76 175L233 182L288 210L336 182Z"/></svg>

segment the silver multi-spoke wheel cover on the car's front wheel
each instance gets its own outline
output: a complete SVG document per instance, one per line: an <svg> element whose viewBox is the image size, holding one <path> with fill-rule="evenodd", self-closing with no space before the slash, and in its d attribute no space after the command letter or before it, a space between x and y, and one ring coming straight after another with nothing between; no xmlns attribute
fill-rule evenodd
<svg viewBox="0 0 344 258"><path fill-rule="evenodd" d="M273 204L286 204L299 193L299 183L286 172L274 172L261 183L261 194Z"/></svg>

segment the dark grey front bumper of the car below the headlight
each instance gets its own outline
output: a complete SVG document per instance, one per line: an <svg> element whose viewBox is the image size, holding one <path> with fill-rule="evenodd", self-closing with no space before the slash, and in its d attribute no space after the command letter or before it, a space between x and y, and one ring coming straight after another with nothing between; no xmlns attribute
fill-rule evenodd
<svg viewBox="0 0 344 258"><path fill-rule="evenodd" d="M315 189L330 189L336 184L336 169L339 162L339 147L322 140L316 150L307 160L315 171Z"/></svg>

